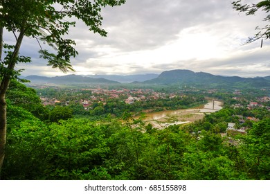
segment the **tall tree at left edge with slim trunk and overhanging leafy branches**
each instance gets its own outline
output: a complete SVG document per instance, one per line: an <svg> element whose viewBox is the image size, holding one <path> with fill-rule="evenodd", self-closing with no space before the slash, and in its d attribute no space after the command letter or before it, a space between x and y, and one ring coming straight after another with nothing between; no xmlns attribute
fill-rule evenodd
<svg viewBox="0 0 270 194"><path fill-rule="evenodd" d="M64 72L73 70L70 59L78 55L78 51L73 48L73 39L64 38L69 33L69 27L75 26L75 21L68 19L82 20L90 31L106 36L107 32L101 28L101 9L123 3L125 0L0 1L0 170L6 146L6 92L10 80L19 76L20 71L15 71L15 65L30 62L29 57L19 55L24 37L32 37L38 44L42 41L56 48L56 53L42 48L39 51L41 57L48 60L48 65ZM15 44L3 42L3 29L14 35Z"/></svg>

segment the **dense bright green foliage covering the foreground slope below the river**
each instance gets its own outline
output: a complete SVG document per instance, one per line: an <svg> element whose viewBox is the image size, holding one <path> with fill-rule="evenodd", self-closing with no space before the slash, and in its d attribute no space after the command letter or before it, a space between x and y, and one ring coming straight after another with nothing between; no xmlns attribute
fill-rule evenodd
<svg viewBox="0 0 270 194"><path fill-rule="evenodd" d="M195 123L156 130L129 113L122 122L110 116L63 120L60 107L36 114L39 100L30 107L16 104L15 88L8 96L3 179L270 179L269 112L232 141L220 134L228 122L238 121L232 115L240 110L229 107ZM37 99L35 91L24 89ZM59 117L50 121L53 114Z"/></svg>

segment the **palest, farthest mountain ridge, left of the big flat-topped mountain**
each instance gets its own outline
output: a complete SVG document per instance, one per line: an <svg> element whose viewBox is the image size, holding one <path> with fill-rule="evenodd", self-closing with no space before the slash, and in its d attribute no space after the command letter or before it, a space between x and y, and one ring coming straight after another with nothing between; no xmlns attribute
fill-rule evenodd
<svg viewBox="0 0 270 194"><path fill-rule="evenodd" d="M90 78L105 78L107 80L113 80L116 82L144 82L146 80L152 80L157 78L159 74L148 73L148 74L136 74L129 76L120 76L120 75L89 75Z"/></svg>

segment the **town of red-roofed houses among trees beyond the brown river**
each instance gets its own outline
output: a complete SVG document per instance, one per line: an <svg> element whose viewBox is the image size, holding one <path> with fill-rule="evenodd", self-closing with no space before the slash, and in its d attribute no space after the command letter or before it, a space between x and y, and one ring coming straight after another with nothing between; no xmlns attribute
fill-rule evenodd
<svg viewBox="0 0 270 194"><path fill-rule="evenodd" d="M270 112L270 97L267 90L258 92L234 91L221 92L218 89L199 89L196 87L175 88L165 91L163 88L64 88L64 87L38 87L35 88L45 106L63 106L73 109L73 114L84 116L106 116L108 114L121 118L124 112L162 112L170 109L186 109L199 107L208 100L217 99L223 102L223 107L233 109L232 118L238 118L236 124L228 122L226 134L245 134L251 125L246 121L260 121ZM80 111L78 111L80 109ZM168 114L168 113L166 113ZM78 115L77 115L78 116ZM178 122L196 121L202 116L190 116ZM165 119L163 119L165 121ZM181 121L183 120L183 121ZM235 121L235 119L233 119ZM247 122L249 123L249 122ZM153 124L153 123L152 123ZM154 125L157 126L157 125ZM222 130L224 132L224 130Z"/></svg>

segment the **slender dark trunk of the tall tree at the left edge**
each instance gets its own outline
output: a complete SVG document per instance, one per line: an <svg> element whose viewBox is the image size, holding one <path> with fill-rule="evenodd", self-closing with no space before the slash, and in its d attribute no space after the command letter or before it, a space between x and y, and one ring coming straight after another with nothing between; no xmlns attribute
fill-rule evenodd
<svg viewBox="0 0 270 194"><path fill-rule="evenodd" d="M2 35L3 30L0 31L0 41L3 43ZM19 33L19 37L15 44L14 51L9 60L8 70L12 72L15 69L15 64L17 63L17 57L19 55L19 48L21 47L21 42L24 38L25 28L24 26L21 28L21 32ZM2 48L1 48L2 49ZM1 53L0 53L1 55ZM1 59L1 58L0 58ZM0 175L1 168L3 166L3 159L5 158L5 147L6 147L6 91L8 91L8 86L10 84L10 75L6 73L3 76L3 80L0 80Z"/></svg>

